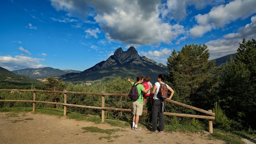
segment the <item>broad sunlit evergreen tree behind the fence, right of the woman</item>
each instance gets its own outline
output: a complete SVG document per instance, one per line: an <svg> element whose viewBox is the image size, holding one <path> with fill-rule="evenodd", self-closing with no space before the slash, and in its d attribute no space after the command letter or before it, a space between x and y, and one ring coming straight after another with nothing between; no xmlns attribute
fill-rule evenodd
<svg viewBox="0 0 256 144"><path fill-rule="evenodd" d="M202 109L213 107L212 95L221 70L215 67L215 60L208 61L209 57L205 44L185 44L181 51L173 50L167 61L170 69L167 83L179 92L174 100Z"/></svg>

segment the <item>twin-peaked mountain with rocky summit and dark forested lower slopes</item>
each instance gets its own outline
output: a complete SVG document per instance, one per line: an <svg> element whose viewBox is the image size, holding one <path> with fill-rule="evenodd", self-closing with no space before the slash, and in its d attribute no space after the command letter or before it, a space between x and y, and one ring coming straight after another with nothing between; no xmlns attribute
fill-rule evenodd
<svg viewBox="0 0 256 144"><path fill-rule="evenodd" d="M70 73L56 78L63 79L63 81L79 82L102 78L113 80L129 76L134 79L138 75L142 75L156 79L157 75L167 74L168 71L169 69L162 63L157 63L145 56L140 57L134 47L130 47L125 52L120 47L106 61L101 61L81 73Z"/></svg>

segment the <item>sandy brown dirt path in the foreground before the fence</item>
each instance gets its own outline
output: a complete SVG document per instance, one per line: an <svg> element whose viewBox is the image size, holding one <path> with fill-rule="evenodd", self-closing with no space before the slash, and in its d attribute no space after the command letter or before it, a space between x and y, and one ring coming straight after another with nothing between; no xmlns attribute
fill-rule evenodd
<svg viewBox="0 0 256 144"><path fill-rule="evenodd" d="M14 117L13 117L14 116ZM84 132L82 127L94 126L100 129L116 129L122 131L112 133ZM83 133L84 132L84 133ZM43 114L0 113L0 143L1 144L55 144L55 143L168 143L168 144L209 144L225 143L221 140L209 139L209 133L154 133L146 128L133 131L130 128L120 128L109 124L94 124L87 121L76 121L66 117Z"/></svg>

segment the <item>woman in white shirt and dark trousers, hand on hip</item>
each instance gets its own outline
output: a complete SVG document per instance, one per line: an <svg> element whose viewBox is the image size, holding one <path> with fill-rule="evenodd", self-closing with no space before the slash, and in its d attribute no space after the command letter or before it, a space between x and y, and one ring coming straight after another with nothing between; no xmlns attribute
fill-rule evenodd
<svg viewBox="0 0 256 144"><path fill-rule="evenodd" d="M164 132L164 106L165 106L165 100L159 100L157 98L157 93L160 88L160 83L164 83L163 81L165 80L165 75L160 74L158 75L158 82L155 83L155 86L153 88L152 93L154 94L153 97L153 103L152 103L152 129L151 131L157 132L157 112L159 110L159 131L162 133ZM165 84L165 83L164 83ZM166 98L166 100L170 100L172 98L172 95L174 91L170 86L167 86L167 89L171 92L170 97Z"/></svg>

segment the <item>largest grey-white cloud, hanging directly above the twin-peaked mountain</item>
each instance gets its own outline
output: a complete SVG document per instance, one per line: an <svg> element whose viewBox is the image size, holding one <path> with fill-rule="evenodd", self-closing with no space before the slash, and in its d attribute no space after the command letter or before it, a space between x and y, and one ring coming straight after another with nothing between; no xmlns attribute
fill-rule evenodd
<svg viewBox="0 0 256 144"><path fill-rule="evenodd" d="M182 25L171 25L159 18L160 0L51 1L56 10L78 15L83 13L84 16L95 15L94 20L99 23L101 31L105 33L109 41L129 45L149 45L161 42L171 44L172 40L185 33ZM95 37L89 31L88 35Z"/></svg>

